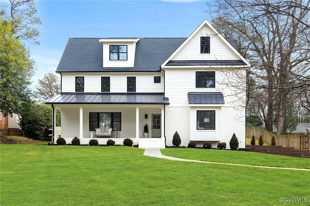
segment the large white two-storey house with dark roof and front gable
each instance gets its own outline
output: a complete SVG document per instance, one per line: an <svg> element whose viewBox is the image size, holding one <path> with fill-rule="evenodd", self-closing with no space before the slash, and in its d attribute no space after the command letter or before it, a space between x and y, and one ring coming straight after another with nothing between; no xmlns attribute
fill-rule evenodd
<svg viewBox="0 0 310 206"><path fill-rule="evenodd" d="M141 148L164 148L177 131L181 146L229 148L235 133L244 148L249 66L207 20L188 38L70 38L56 70L61 93L47 104L54 122L61 109L67 144L75 136L88 144L96 128L112 128L120 138L99 144L130 138Z"/></svg>

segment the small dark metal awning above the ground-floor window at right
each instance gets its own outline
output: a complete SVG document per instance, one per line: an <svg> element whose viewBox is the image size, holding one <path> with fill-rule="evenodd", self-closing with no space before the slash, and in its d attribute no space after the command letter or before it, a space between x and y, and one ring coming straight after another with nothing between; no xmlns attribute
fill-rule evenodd
<svg viewBox="0 0 310 206"><path fill-rule="evenodd" d="M188 104L225 104L221 92L188 92Z"/></svg>

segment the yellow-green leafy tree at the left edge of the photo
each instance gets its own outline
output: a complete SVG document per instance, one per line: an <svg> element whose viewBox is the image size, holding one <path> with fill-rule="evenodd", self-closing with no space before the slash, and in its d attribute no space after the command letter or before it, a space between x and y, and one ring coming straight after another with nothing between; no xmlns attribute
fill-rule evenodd
<svg viewBox="0 0 310 206"><path fill-rule="evenodd" d="M29 51L12 32L12 23L0 19L0 105L1 112L20 114L23 102L31 97L33 61Z"/></svg>

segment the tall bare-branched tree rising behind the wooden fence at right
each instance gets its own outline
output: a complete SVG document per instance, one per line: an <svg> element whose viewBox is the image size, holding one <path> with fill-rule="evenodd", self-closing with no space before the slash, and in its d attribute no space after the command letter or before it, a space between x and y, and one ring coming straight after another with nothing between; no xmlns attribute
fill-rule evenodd
<svg viewBox="0 0 310 206"><path fill-rule="evenodd" d="M310 1L215 0L208 5L221 33L243 37L239 50L252 65L250 89L260 89L266 129L272 131L276 118L278 133L284 133L288 97L310 88Z"/></svg>

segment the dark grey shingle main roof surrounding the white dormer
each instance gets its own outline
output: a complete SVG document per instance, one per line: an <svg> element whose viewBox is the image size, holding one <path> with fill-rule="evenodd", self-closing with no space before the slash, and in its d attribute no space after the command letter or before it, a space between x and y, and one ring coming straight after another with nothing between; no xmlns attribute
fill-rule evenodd
<svg viewBox="0 0 310 206"><path fill-rule="evenodd" d="M140 38L136 45L134 67L104 68L100 39L107 38L70 38L56 72L158 72L160 65L186 40Z"/></svg>

